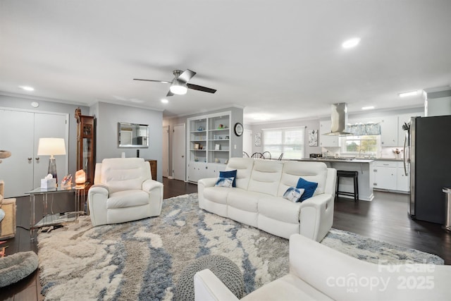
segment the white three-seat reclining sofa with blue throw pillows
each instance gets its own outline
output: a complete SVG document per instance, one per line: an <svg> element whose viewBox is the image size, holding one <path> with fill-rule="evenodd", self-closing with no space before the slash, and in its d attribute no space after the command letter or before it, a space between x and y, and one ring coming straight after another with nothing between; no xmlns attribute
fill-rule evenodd
<svg viewBox="0 0 451 301"><path fill-rule="evenodd" d="M216 187L216 178L197 182L200 208L283 238L300 233L319 241L332 227L335 169L323 162L231 158L226 171L235 169L235 188ZM313 197L293 203L283 194L299 177L318 187Z"/></svg>

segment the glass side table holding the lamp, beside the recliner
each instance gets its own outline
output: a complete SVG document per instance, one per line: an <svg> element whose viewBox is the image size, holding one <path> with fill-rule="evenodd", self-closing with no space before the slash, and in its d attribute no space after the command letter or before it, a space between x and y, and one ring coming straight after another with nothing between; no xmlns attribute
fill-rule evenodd
<svg viewBox="0 0 451 301"><path fill-rule="evenodd" d="M78 216L80 214L85 214L85 188L88 183L81 185L73 185L65 188L35 188L29 192L25 192L25 194L30 195L30 238L31 240L35 239L35 230L38 228L42 228L45 226L58 226L64 225L66 223L71 223L78 221ZM54 197L55 194L63 193L63 192L73 192L75 193L75 211L64 212L64 213L51 213L47 212L47 203L49 200L49 195ZM42 205L43 205L43 214L42 219L36 222L36 196L42 195ZM80 211L80 205L83 210Z"/></svg>

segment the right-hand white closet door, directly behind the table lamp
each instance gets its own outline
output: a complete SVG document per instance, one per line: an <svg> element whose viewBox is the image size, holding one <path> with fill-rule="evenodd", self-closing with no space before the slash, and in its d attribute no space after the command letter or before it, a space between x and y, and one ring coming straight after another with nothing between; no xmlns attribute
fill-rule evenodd
<svg viewBox="0 0 451 301"><path fill-rule="evenodd" d="M39 138L63 138L66 142L66 156L55 156L56 174L58 176L58 185L64 176L68 174L68 116L52 113L35 113L35 147L34 154L37 158L37 147ZM47 176L49 169L50 156L39 156L39 160L35 159L33 188L41 185L41 179ZM73 175L73 183L75 183L75 175ZM31 189L33 189L31 188Z"/></svg>

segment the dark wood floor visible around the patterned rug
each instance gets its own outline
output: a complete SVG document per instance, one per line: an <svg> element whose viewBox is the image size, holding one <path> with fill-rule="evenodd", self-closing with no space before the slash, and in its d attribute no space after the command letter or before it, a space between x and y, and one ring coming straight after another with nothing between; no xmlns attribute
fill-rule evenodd
<svg viewBox="0 0 451 301"><path fill-rule="evenodd" d="M163 178L164 198L197 192L197 185L180 180ZM30 200L17 199L17 228L15 238L8 245L6 254L33 250L37 245L30 241L30 232L25 230L30 224ZM375 192L373 202L353 202L339 198L335 201L333 228L350 231L369 238L383 240L403 247L412 247L437 254L451 264L451 233L443 231L440 225L422 221L412 221L407 216L407 195ZM40 293L39 271L18 283L0 289L0 300L43 300Z"/></svg>

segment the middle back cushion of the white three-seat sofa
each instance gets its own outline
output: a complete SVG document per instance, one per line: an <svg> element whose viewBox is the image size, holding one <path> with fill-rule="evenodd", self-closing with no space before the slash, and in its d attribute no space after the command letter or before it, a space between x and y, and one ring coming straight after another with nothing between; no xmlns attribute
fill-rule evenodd
<svg viewBox="0 0 451 301"><path fill-rule="evenodd" d="M276 196L278 185L280 183L280 176L282 176L283 161L254 161L254 168L252 169L248 190Z"/></svg>

